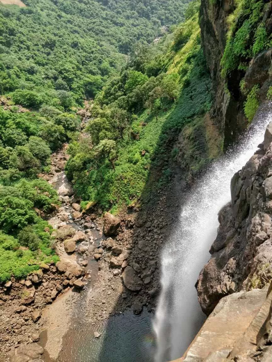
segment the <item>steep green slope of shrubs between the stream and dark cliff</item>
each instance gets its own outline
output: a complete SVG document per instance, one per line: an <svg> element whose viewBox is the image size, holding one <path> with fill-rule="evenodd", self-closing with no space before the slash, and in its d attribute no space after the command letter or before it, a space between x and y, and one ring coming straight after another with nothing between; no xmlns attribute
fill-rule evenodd
<svg viewBox="0 0 272 362"><path fill-rule="evenodd" d="M153 190L167 184L174 140L211 107L198 5L189 10L185 24L158 45L137 46L127 68L97 94L89 136L70 144L67 176L78 195L102 209L116 212L143 194L146 201L149 182Z"/></svg>

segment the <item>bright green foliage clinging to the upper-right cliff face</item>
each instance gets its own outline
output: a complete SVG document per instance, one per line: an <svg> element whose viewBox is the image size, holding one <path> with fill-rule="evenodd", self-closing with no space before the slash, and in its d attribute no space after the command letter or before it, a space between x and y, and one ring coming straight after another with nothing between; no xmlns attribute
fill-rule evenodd
<svg viewBox="0 0 272 362"><path fill-rule="evenodd" d="M227 18L229 30L221 60L223 77L243 78L251 59L272 46L270 13L271 3L264 0L235 2L235 10ZM259 106L259 88L257 81L249 89L244 79L240 81L241 93L246 96L244 112L249 122Z"/></svg>

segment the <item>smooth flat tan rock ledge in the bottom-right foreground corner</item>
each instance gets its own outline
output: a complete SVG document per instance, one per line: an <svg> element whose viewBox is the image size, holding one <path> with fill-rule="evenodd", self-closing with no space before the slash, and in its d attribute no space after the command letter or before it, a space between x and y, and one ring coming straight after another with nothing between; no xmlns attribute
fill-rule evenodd
<svg viewBox="0 0 272 362"><path fill-rule="evenodd" d="M221 299L176 362L270 362L272 283Z"/></svg>

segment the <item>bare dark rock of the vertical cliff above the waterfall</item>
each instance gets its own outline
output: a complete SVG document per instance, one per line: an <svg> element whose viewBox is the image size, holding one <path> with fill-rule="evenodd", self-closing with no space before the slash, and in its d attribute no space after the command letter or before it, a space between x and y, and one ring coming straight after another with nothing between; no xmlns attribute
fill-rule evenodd
<svg viewBox="0 0 272 362"><path fill-rule="evenodd" d="M235 10L235 4L234 0L202 0L200 8L202 46L213 80L215 94L211 119L224 137L225 148L234 142L239 133L247 127L247 119L243 110L246 96L240 90L240 81L244 78L248 92L254 85L259 85L258 100L260 103L265 99L269 85L271 85L271 75L269 75L271 49L257 54L248 63L246 70L234 70L228 73L226 78L221 76L221 59L226 46L228 31L227 17ZM262 22L267 33L270 34L272 7L271 3L268 5Z"/></svg>

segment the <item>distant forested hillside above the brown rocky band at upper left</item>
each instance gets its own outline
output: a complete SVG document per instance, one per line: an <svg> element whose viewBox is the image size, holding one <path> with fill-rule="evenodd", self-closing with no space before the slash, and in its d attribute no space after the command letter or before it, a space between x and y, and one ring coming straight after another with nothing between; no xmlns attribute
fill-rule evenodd
<svg viewBox="0 0 272 362"><path fill-rule="evenodd" d="M125 64L136 41L152 42L184 18L188 0L25 0L0 4L0 94L16 104L81 104Z"/></svg>

